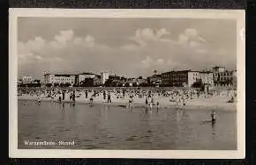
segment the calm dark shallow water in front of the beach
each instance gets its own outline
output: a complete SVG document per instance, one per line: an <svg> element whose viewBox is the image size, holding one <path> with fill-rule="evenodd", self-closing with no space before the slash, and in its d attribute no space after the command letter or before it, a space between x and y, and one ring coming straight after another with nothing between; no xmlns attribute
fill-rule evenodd
<svg viewBox="0 0 256 165"><path fill-rule="evenodd" d="M19 148L237 149L235 111L210 111L19 101ZM25 141L71 141L74 146L27 146Z"/></svg>

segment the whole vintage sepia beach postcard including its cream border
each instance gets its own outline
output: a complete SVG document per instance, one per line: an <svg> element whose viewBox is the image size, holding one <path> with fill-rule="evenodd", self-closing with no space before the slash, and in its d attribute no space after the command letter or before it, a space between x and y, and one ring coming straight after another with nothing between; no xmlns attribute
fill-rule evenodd
<svg viewBox="0 0 256 165"><path fill-rule="evenodd" d="M245 158L245 11L9 12L10 157Z"/></svg>

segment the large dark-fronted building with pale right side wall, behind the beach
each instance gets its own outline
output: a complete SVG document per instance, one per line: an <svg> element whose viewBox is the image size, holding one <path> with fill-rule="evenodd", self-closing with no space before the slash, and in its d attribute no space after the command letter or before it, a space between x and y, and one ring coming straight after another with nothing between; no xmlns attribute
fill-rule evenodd
<svg viewBox="0 0 256 165"><path fill-rule="evenodd" d="M171 87L192 87L200 81L200 72L192 70L170 71L162 73L162 85Z"/></svg>

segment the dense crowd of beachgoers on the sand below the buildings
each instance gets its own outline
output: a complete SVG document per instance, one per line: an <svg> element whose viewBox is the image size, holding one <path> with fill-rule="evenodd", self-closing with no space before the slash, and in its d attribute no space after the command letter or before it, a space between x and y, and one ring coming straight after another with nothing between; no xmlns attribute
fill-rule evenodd
<svg viewBox="0 0 256 165"><path fill-rule="evenodd" d="M37 98L41 102L42 98L49 98L50 101L76 102L76 99L89 103L102 102L109 103L124 100L131 107L136 104L134 100L144 99L146 106L152 109L153 105L158 107L161 98L168 98L169 104L183 107L188 100L194 98L225 97L227 102L235 102L236 90L223 90L205 92L194 89L169 88L169 89L143 89L143 88L19 88L19 96L29 96ZM69 97L69 98L68 98ZM137 99L136 99L137 98Z"/></svg>

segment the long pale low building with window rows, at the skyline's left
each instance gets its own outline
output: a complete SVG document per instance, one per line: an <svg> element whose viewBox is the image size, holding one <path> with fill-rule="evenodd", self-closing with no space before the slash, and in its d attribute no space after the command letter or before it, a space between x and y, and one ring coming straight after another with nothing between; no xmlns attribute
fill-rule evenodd
<svg viewBox="0 0 256 165"><path fill-rule="evenodd" d="M66 84L70 83L73 85L75 83L76 75L60 75L60 74L44 74L44 83L46 84Z"/></svg>

